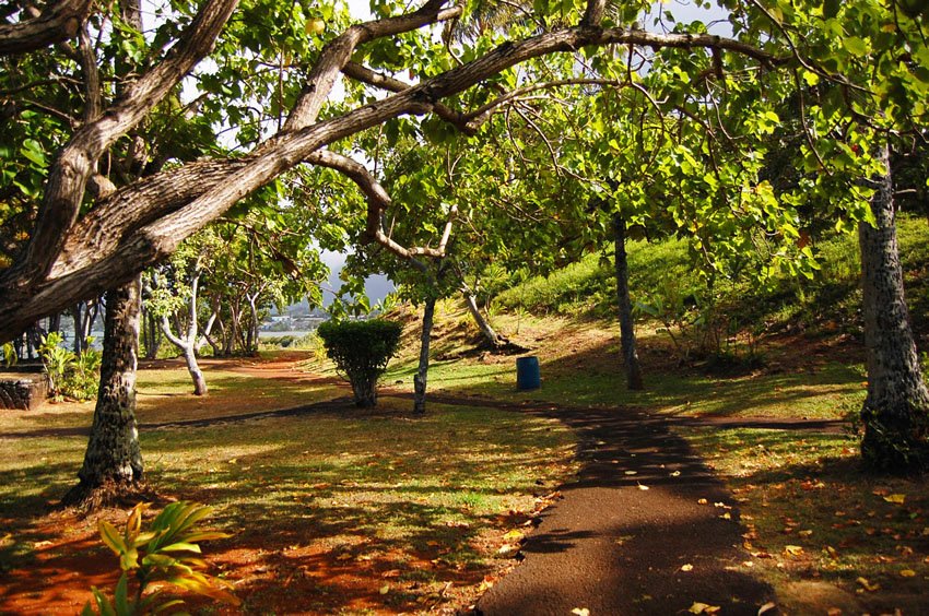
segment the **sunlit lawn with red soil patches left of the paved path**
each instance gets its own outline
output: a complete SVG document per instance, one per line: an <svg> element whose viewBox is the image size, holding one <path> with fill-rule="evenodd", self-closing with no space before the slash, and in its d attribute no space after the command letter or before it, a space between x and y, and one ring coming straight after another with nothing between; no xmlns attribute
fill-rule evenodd
<svg viewBox="0 0 929 616"><path fill-rule="evenodd" d="M318 379L211 366L211 393L195 399L186 378L176 368L140 371L140 420L344 395ZM496 557L504 534L573 472L575 442L552 420L440 405L413 419L408 404L142 429L146 474L166 498L216 507L213 525L234 536L207 544L207 558L248 612L467 603L508 564ZM93 520L48 509L74 481L86 437L73 431L91 414L89 404L0 412L0 612L77 612L91 584L115 582L116 559L95 541Z"/></svg>

